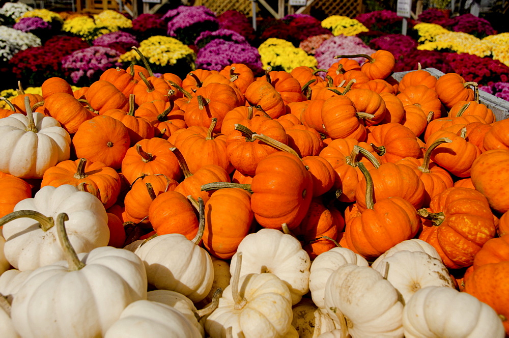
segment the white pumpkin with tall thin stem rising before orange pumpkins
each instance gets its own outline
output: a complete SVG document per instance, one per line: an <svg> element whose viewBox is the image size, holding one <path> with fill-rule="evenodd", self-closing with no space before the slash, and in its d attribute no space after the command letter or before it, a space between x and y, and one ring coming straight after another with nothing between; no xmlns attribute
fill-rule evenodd
<svg viewBox="0 0 509 338"><path fill-rule="evenodd" d="M190 241L181 234L165 234L129 246L145 263L149 284L160 290L180 292L193 302L209 294L214 267L209 253L200 243L205 227L203 200L200 198L200 226Z"/></svg>

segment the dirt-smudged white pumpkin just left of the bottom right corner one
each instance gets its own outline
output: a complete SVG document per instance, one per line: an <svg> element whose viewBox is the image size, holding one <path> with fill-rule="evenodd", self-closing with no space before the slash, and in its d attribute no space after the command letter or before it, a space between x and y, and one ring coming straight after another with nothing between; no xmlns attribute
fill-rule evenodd
<svg viewBox="0 0 509 338"><path fill-rule="evenodd" d="M327 279L325 305L332 319L346 321L352 337L403 337L398 292L370 268L345 264Z"/></svg>

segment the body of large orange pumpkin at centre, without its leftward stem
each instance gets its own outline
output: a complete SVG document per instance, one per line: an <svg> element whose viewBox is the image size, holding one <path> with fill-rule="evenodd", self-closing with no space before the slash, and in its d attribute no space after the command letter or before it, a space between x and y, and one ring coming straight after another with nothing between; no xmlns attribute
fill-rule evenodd
<svg viewBox="0 0 509 338"><path fill-rule="evenodd" d="M260 161L251 182L251 208L264 228L289 229L299 225L313 197L313 181L302 161L287 152Z"/></svg>

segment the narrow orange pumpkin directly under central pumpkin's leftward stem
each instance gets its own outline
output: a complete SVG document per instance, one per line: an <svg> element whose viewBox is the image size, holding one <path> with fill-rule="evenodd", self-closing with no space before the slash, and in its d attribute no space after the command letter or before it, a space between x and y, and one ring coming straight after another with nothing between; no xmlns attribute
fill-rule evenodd
<svg viewBox="0 0 509 338"><path fill-rule="evenodd" d="M205 204L205 230L203 245L211 255L230 259L237 247L249 234L254 214L251 194L244 189L219 189Z"/></svg>

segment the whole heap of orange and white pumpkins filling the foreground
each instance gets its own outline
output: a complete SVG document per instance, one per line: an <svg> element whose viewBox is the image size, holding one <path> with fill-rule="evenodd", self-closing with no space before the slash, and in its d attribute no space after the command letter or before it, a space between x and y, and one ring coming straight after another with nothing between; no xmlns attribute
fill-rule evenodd
<svg viewBox="0 0 509 338"><path fill-rule="evenodd" d="M20 86L0 336L509 334L509 121L458 74L348 56Z"/></svg>

